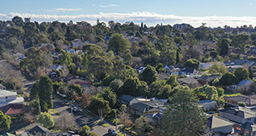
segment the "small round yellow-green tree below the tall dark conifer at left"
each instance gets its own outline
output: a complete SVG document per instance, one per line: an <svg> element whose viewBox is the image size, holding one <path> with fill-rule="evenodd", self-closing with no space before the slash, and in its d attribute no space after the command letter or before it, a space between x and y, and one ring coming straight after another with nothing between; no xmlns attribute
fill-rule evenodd
<svg viewBox="0 0 256 136"><path fill-rule="evenodd" d="M43 124L43 127L45 128L51 128L54 125L54 120L53 120L53 116L51 114L48 114L46 112L41 112L38 115L38 119L37 122L39 124Z"/></svg>

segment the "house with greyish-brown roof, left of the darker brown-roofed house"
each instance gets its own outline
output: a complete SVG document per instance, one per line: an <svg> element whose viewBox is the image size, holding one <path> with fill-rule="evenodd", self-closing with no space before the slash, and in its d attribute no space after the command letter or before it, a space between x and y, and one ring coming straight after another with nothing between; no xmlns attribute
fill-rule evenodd
<svg viewBox="0 0 256 136"><path fill-rule="evenodd" d="M180 85L190 88L197 88L199 86L198 80L195 80L193 77L179 78L177 81Z"/></svg>

